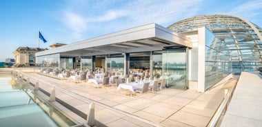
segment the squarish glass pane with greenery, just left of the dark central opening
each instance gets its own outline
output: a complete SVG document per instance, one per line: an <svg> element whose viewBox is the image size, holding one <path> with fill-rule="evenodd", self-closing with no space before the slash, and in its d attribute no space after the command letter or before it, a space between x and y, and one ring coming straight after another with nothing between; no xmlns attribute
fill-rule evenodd
<svg viewBox="0 0 262 127"><path fill-rule="evenodd" d="M123 55L107 55L105 60L107 72L116 72L118 75L123 74Z"/></svg>

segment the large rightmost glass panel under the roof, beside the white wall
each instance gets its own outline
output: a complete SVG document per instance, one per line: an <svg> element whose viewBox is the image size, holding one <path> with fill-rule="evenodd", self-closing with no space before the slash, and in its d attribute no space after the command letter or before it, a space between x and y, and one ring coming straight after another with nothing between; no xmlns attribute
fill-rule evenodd
<svg viewBox="0 0 262 127"><path fill-rule="evenodd" d="M186 48L166 48L162 58L163 75L160 79L167 79L167 87L185 90L188 87Z"/></svg>

